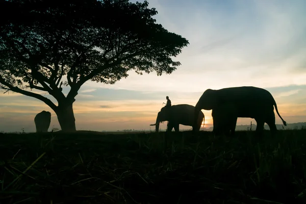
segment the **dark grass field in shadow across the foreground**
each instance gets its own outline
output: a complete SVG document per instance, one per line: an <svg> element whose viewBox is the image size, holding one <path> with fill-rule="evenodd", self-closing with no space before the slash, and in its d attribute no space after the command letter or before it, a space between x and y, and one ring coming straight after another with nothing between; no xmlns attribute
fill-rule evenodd
<svg viewBox="0 0 306 204"><path fill-rule="evenodd" d="M0 135L0 203L306 203L306 130Z"/></svg>

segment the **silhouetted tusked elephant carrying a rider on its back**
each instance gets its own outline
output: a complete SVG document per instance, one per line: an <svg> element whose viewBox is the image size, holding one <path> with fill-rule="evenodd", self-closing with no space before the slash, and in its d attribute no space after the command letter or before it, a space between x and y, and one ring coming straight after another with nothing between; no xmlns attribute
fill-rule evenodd
<svg viewBox="0 0 306 204"><path fill-rule="evenodd" d="M173 127L175 132L179 132L180 124L192 126L193 131L199 131L202 122L205 120L204 114L199 111L197 113L196 123L193 125L195 107L188 104L173 105L171 107L163 107L157 114L156 132L159 132L160 122L168 121L167 132L171 132Z"/></svg>

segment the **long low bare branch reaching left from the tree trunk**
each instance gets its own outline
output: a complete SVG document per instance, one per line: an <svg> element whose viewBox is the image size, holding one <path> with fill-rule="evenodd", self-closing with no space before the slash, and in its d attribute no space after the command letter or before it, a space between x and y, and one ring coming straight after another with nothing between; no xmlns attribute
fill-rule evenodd
<svg viewBox="0 0 306 204"><path fill-rule="evenodd" d="M43 101L46 105L48 105L50 108L52 108L52 110L54 110L55 112L57 111L57 106L48 98L40 95L40 94L37 94L37 93L33 93L33 92L30 92L30 91L25 91L25 90L22 90L18 87L15 87L11 84L9 84L8 82L6 82L1 76L0 76L0 83L7 86L11 91L14 91L14 92L17 92L17 93L21 93L23 95L27 95L27 96L31 96L31 97L34 97L36 99L39 99L41 101Z"/></svg>

